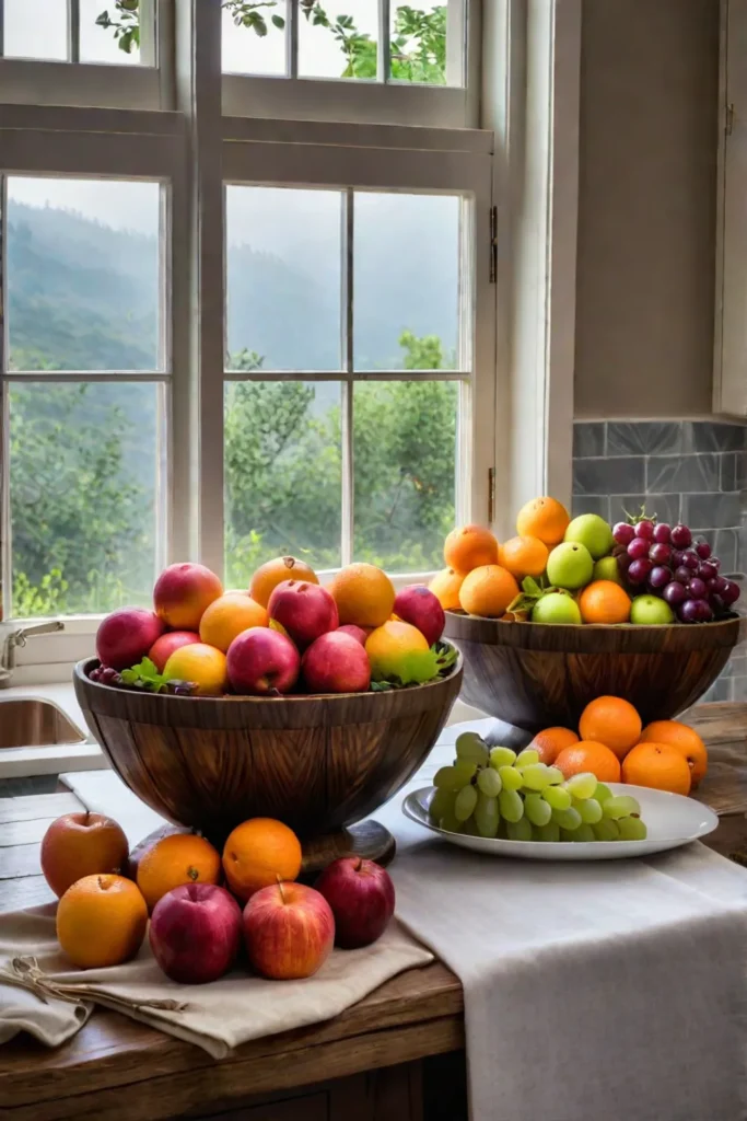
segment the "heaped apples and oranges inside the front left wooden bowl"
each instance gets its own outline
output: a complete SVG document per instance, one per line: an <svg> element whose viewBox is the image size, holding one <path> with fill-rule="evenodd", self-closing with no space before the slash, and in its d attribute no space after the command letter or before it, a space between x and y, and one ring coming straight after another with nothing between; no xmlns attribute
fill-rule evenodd
<svg viewBox="0 0 747 1121"><path fill-rule="evenodd" d="M364 693L448 674L443 609L424 584L400 592L371 564L342 568L321 587L295 557L254 573L248 592L224 592L199 564L174 564L153 610L122 608L96 634L102 685L197 696Z"/></svg>

